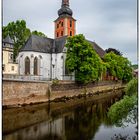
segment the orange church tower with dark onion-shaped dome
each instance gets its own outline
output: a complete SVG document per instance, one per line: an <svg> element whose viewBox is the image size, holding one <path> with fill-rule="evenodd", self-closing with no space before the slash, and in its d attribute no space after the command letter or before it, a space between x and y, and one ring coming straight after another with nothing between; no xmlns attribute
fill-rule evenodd
<svg viewBox="0 0 140 140"><path fill-rule="evenodd" d="M69 0L62 0L61 8L58 10L58 18L55 23L55 38L62 36L74 36L76 20L72 17L72 10L69 8Z"/></svg>

